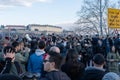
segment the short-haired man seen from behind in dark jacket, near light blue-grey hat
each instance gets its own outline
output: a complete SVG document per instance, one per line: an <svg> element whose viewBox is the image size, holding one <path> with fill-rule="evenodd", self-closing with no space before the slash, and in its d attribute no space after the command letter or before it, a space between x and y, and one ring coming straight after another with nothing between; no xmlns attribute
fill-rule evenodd
<svg viewBox="0 0 120 80"><path fill-rule="evenodd" d="M102 54L96 54L93 57L93 67L87 67L83 76L83 80L102 80L106 71L103 69L105 59Z"/></svg>

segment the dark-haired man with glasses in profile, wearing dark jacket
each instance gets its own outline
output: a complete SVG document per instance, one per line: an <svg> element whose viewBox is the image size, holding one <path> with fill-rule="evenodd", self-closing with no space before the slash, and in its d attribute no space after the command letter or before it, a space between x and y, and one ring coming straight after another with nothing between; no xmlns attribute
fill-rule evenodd
<svg viewBox="0 0 120 80"><path fill-rule="evenodd" d="M60 71L62 56L56 52L49 52L44 60L45 77L40 80L71 80L64 72Z"/></svg>

